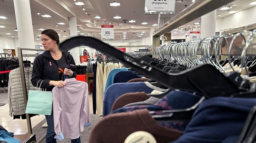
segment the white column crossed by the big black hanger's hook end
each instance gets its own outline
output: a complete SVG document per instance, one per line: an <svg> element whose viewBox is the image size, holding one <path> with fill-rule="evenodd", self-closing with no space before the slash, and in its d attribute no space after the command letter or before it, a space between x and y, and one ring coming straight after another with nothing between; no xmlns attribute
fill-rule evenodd
<svg viewBox="0 0 256 143"><path fill-rule="evenodd" d="M70 37L77 36L76 17L69 17L69 27L70 27ZM72 48L72 56L76 64L80 63L79 48L80 47Z"/></svg>

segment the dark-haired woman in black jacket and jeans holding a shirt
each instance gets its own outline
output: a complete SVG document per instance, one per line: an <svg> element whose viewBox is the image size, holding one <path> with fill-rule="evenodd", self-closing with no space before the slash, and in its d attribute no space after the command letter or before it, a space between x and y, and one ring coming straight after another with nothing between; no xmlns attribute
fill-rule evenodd
<svg viewBox="0 0 256 143"><path fill-rule="evenodd" d="M37 86L37 83L39 82L40 85L43 80L41 88L52 91L55 86L65 86L66 83L62 81L63 74L69 75L70 78L76 77L75 70L71 71L65 68L68 64L75 65L75 62L69 52L62 53L60 51L58 46L60 44L59 35L55 30L42 31L41 40L46 51L34 60L31 82L34 86ZM45 117L48 124L46 143L56 143L53 112L52 115L45 115ZM80 143L80 137L71 140L71 143Z"/></svg>

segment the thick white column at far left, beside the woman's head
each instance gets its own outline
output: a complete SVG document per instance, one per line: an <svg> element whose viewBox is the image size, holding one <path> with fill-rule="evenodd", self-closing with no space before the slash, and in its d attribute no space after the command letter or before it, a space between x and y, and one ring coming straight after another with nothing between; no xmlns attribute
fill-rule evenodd
<svg viewBox="0 0 256 143"><path fill-rule="evenodd" d="M19 45L21 48L35 49L35 38L32 26L30 2L29 0L13 0L13 2L19 36ZM23 54L35 54L35 51L22 52ZM25 58L23 58L23 60L25 60ZM34 58L31 57L28 58L28 60L30 60L33 63Z"/></svg>

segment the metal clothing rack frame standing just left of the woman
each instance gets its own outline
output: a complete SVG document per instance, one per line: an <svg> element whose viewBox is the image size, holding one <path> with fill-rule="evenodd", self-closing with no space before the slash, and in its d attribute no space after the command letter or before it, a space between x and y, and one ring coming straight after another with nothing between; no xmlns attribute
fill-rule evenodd
<svg viewBox="0 0 256 143"><path fill-rule="evenodd" d="M45 51L42 49L30 49L30 48L17 48L18 50L18 57L20 59L23 59L23 57L35 57L37 54L22 54L22 51ZM22 83L22 89L23 89L23 96L24 96L24 104L25 107L27 106L27 102L28 102L28 93L27 93L27 86L26 86L26 79L25 79L25 72L24 72L24 66L23 66L23 60L19 61L19 65L20 65L20 73L21 73L21 83ZM31 120L29 117L29 114L26 114L26 118L27 118L27 126L28 126L28 133L32 134L32 126L31 126Z"/></svg>

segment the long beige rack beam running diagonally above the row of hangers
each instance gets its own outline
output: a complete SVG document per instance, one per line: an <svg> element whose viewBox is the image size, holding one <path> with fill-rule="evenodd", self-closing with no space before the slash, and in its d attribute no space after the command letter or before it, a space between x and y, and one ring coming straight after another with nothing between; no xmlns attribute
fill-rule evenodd
<svg viewBox="0 0 256 143"><path fill-rule="evenodd" d="M225 4L234 0L197 0L188 8L180 12L170 21L159 27L153 35L153 57L154 48L160 46L160 36L172 31L173 29L187 24Z"/></svg>

